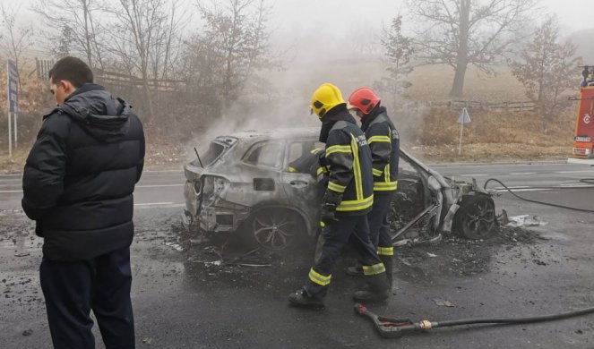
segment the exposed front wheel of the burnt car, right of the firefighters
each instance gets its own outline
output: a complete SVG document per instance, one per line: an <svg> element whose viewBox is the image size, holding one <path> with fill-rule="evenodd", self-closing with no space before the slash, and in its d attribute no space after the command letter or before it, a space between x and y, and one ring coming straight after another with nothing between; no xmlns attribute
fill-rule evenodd
<svg viewBox="0 0 594 349"><path fill-rule="evenodd" d="M464 198L454 217L454 228L470 240L489 237L496 226L495 203L486 195Z"/></svg>

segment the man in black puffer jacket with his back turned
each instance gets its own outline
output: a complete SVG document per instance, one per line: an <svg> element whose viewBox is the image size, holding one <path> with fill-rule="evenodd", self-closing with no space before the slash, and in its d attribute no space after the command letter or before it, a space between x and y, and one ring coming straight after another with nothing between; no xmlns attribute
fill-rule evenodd
<svg viewBox="0 0 594 349"><path fill-rule="evenodd" d="M94 348L92 310L107 348L133 348L129 246L142 123L78 58L57 61L49 78L57 107L27 157L22 209L44 238L39 274L52 341Z"/></svg>

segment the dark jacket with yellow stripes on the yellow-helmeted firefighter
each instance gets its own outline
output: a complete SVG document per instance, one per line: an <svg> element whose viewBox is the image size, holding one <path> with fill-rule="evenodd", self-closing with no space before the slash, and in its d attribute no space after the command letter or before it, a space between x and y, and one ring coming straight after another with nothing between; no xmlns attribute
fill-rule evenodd
<svg viewBox="0 0 594 349"><path fill-rule="evenodd" d="M327 190L342 194L338 216L365 215L374 204L371 151L346 106L333 109L335 113L324 116L320 134L326 143L323 166L328 170Z"/></svg>

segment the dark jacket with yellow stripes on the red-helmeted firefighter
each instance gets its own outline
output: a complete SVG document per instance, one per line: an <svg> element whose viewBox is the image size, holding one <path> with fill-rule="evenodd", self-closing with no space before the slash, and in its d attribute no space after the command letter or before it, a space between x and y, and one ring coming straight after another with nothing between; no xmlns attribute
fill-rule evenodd
<svg viewBox="0 0 594 349"><path fill-rule="evenodd" d="M398 187L400 136L384 106L361 119L371 149L374 174L374 192L394 192Z"/></svg>

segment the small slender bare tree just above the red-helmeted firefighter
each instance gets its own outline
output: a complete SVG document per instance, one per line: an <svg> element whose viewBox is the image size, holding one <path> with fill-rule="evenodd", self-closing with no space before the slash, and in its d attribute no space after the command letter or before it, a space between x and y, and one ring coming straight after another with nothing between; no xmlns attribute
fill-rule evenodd
<svg viewBox="0 0 594 349"><path fill-rule="evenodd" d="M389 93L392 98L392 108L395 108L404 91L412 85L406 77L414 69L410 64L410 58L414 53L413 40L402 34L401 15L392 19L392 25L384 29L382 46L388 58L386 70L389 75L383 77L381 81L376 81L374 87Z"/></svg>

